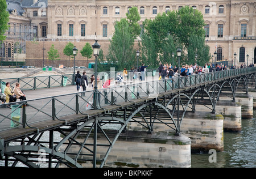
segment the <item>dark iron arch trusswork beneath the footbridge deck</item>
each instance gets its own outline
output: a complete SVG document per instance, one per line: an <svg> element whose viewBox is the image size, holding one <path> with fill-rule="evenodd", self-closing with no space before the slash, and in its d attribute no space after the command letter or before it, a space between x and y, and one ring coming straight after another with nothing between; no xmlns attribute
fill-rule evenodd
<svg viewBox="0 0 256 179"><path fill-rule="evenodd" d="M247 93L249 87L255 87L254 72L237 76L232 70L229 73L233 76L218 78L218 80L215 75L213 77L211 74L211 76L193 76L195 79L183 78L182 83L177 83L179 80L176 79L161 80L158 86L154 87L147 83L144 87L136 87L141 89L140 91L135 90L135 86L116 88L115 90L120 90L119 93L102 91L101 100L105 100L105 95L111 95L111 100L107 102L111 102L112 105L103 106L98 110L92 109L91 115L86 110L80 110L89 101L77 94L69 96L70 100L67 100L65 96L66 103L53 98L48 101L52 105L52 113L43 112L44 118L52 118L52 123L59 120L61 124L58 123L45 130L36 128L37 130L35 129L31 135L24 135L19 139L6 142L5 145L0 138L0 159L5 160L6 164L12 161L13 167L18 166L19 163L27 167L39 167L40 165L104 167L115 142L123 131L139 129L152 133L161 125L166 127L164 129L174 131L176 135L179 135L185 113L189 110L194 112L198 104L207 106L214 113L217 101L223 92L228 92L228 95L235 100L237 90ZM177 88L176 84L182 87ZM159 91L157 96L150 97L150 89L155 90L154 93ZM122 103L114 100L114 93L118 94L117 99ZM84 100L83 103L79 103L80 100ZM19 106L26 106L21 103ZM38 108L30 107L36 110L36 113L42 112ZM63 120L63 116L58 116L63 109L70 111L70 115L78 116L77 120ZM26 108L23 108L22 113L25 112ZM5 120L10 120L9 114L1 115ZM26 119L27 116L23 115L23 117Z"/></svg>

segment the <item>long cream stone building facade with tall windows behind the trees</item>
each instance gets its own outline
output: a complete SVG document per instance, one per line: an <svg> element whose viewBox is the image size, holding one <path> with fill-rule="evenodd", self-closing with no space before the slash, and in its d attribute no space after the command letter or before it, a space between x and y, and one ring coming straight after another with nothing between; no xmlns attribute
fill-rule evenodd
<svg viewBox="0 0 256 179"><path fill-rule="evenodd" d="M94 39L108 42L113 35L114 22L125 18L133 6L138 7L141 27L144 19L153 19L158 13L179 10L182 6L196 8L204 16L205 43L210 46L211 54L217 51L217 60L228 59L229 65L233 60L234 64L233 54L236 53L237 66L247 63L247 54L249 64L256 63L255 0L41 0L23 8L37 26L39 41L47 36L47 40L53 42ZM35 11L44 15L36 18L32 15Z"/></svg>

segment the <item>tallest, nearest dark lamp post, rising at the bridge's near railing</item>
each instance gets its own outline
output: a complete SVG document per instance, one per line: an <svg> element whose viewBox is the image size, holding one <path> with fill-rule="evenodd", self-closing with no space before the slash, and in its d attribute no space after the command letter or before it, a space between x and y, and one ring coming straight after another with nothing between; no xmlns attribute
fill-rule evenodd
<svg viewBox="0 0 256 179"><path fill-rule="evenodd" d="M93 48L93 55L95 56L95 80L94 80L94 91L93 91L93 107L94 109L100 109L100 106L99 106L99 97L98 97L98 82L97 82L97 75L98 75L98 62L97 62L97 57L98 57L98 54L100 53L100 48L101 48L101 45L98 44L98 40L95 40L94 44L92 45L92 48Z"/></svg>

